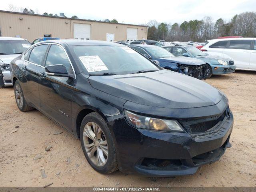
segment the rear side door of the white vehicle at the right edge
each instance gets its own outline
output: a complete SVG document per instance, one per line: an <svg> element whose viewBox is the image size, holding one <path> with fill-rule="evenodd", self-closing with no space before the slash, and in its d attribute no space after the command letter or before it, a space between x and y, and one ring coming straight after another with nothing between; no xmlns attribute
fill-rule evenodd
<svg viewBox="0 0 256 192"><path fill-rule="evenodd" d="M230 40L228 48L223 50L234 60L237 69L249 69L252 40Z"/></svg>

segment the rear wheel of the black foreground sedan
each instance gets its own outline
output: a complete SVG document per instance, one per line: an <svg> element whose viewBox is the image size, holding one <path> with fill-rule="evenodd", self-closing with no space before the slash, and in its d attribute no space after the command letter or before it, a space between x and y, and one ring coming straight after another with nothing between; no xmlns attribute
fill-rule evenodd
<svg viewBox="0 0 256 192"><path fill-rule="evenodd" d="M30 110L34 109L34 108L28 106L28 104L25 100L25 97L24 97L23 90L20 86L20 82L18 80L16 80L16 82L14 84L14 95L15 95L16 104L17 104L19 110L25 112L25 111L30 111Z"/></svg>

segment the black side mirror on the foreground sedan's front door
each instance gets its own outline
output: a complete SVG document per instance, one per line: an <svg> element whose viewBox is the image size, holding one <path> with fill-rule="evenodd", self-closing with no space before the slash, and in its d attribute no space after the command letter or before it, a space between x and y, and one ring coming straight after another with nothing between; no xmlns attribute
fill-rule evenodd
<svg viewBox="0 0 256 192"><path fill-rule="evenodd" d="M45 71L48 76L74 78L74 75L68 74L68 71L64 65L49 65L45 67Z"/></svg>

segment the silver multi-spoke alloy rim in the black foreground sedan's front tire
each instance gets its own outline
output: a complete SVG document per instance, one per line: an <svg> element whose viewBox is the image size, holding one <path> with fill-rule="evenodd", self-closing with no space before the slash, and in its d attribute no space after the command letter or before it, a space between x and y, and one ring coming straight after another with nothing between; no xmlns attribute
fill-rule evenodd
<svg viewBox="0 0 256 192"><path fill-rule="evenodd" d="M88 122L83 131L84 147L91 162L104 166L108 159L108 144L104 132L95 122Z"/></svg>

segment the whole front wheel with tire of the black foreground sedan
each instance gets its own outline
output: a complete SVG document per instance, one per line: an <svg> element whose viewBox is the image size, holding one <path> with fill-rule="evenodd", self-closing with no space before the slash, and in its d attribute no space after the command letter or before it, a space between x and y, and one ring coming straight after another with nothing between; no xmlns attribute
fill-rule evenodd
<svg viewBox="0 0 256 192"><path fill-rule="evenodd" d="M118 169L114 138L100 114L92 112L84 117L80 141L84 156L94 170L110 174Z"/></svg>

